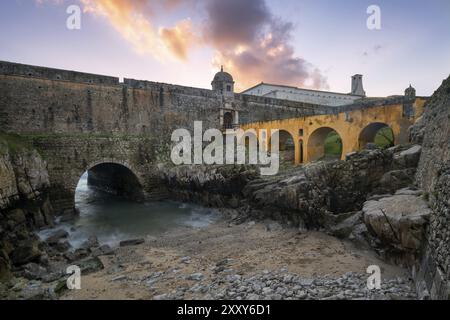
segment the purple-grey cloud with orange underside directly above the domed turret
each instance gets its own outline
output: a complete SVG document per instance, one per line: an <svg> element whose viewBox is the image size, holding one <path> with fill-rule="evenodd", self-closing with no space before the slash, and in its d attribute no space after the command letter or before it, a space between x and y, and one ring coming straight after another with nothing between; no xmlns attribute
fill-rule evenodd
<svg viewBox="0 0 450 320"><path fill-rule="evenodd" d="M216 49L213 64L224 65L243 90L261 81L326 89L327 79L291 44L293 26L274 18L264 0L209 0L206 40Z"/></svg>

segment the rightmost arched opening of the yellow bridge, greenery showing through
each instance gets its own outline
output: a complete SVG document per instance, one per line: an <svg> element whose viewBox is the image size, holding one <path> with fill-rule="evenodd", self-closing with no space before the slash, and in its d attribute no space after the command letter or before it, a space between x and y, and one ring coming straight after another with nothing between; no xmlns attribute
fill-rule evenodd
<svg viewBox="0 0 450 320"><path fill-rule="evenodd" d="M394 133L385 123L375 122L365 127L359 134L359 149L389 148L395 144Z"/></svg>

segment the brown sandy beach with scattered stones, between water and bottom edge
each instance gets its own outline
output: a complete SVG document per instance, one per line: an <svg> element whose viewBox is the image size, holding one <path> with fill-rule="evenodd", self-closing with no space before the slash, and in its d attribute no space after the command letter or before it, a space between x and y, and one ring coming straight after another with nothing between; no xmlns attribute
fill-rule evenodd
<svg viewBox="0 0 450 320"><path fill-rule="evenodd" d="M103 256L104 269L62 299L416 299L405 269L320 232L266 221L179 230ZM224 241L228 240L228 241ZM244 244L245 243L245 244ZM380 265L380 290L367 266Z"/></svg>

